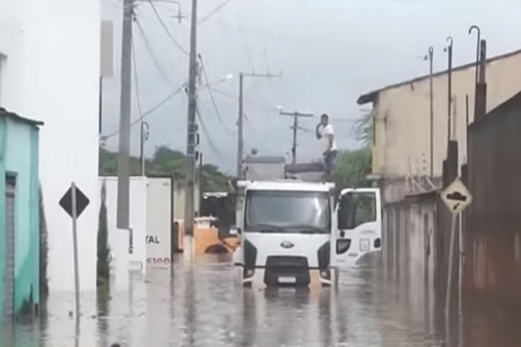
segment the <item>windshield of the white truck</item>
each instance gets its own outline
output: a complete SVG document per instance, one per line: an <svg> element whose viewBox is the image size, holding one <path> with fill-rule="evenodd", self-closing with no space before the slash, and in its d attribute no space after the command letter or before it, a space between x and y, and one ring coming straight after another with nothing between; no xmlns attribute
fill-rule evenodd
<svg viewBox="0 0 521 347"><path fill-rule="evenodd" d="M327 233L329 220L327 193L263 190L247 194L247 231Z"/></svg>

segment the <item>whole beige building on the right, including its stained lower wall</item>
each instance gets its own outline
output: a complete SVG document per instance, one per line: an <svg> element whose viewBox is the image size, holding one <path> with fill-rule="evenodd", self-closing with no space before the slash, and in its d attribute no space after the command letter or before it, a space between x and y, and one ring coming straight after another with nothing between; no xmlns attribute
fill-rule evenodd
<svg viewBox="0 0 521 347"><path fill-rule="evenodd" d="M517 78L521 74L521 50L490 58L485 65L486 109L491 110L521 90ZM438 192L443 181L458 176L458 168L469 161L468 124L474 121L475 82L474 63L453 69L449 134L448 73L433 75L432 179L429 76L389 85L358 99L359 104L373 106L372 176L382 191L383 257L399 276L415 278L411 274L422 274L419 278L432 283L436 296L443 300L451 216ZM447 148L449 139L451 151ZM456 264L458 257L454 256ZM458 266L453 276L457 283Z"/></svg>

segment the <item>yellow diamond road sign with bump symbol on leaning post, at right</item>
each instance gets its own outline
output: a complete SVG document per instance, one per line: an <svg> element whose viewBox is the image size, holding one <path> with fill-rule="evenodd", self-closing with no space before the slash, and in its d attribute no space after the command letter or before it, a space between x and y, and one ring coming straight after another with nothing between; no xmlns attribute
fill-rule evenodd
<svg viewBox="0 0 521 347"><path fill-rule="evenodd" d="M452 226L450 230L449 269L447 271L447 291L445 292L445 315L449 316L450 294L452 289L452 263L454 258L454 236L456 235L457 217L468 205L472 203L472 195L467 187L456 178L443 192L441 198L452 213ZM448 319L447 319L448 321Z"/></svg>

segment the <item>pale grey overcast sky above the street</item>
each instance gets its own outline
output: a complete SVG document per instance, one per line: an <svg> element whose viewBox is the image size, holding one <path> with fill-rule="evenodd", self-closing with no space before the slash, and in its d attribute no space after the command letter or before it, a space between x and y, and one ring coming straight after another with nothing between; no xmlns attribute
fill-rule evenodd
<svg viewBox="0 0 521 347"><path fill-rule="evenodd" d="M109 134L119 122L122 2L101 1L104 19L113 20L115 26L115 74L104 81L103 133ZM179 2L183 15L189 17L191 1ZM158 3L156 8L176 42L188 49L188 18L179 24L174 4ZM144 33L134 24L140 104L146 112L187 81L188 56L170 40L147 0L136 13ZM199 0L203 20L198 27L198 51L210 84L233 74L214 86L222 123L208 89L199 90L201 117L210 135L201 133L205 161L234 170L239 71L282 73L281 78L245 79L246 153L252 148L259 155L290 151L292 120L278 114L278 105L317 115L301 121L308 130L320 114L328 113L340 149L353 149L359 145L354 122L370 109L356 104L360 94L426 74L428 62L421 57L430 45L435 49L436 69L444 69L447 35L454 37L455 65L474 60L476 37L468 35L472 24L481 26L489 56L520 49L520 13L519 0ZM132 117L138 119L135 96L134 90ZM185 151L186 115L187 97L182 92L147 116L147 155L161 144ZM135 155L138 143L139 126L135 126L131 147ZM313 133L300 131L298 145L299 161L320 158ZM109 139L108 148L117 149L117 135Z"/></svg>

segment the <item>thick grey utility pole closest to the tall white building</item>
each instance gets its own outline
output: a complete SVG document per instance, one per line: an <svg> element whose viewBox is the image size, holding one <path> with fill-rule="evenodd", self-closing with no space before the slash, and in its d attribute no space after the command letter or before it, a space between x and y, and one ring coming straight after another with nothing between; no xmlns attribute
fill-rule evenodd
<svg viewBox="0 0 521 347"><path fill-rule="evenodd" d="M117 154L117 228L129 228L133 0L123 1L119 150Z"/></svg>

